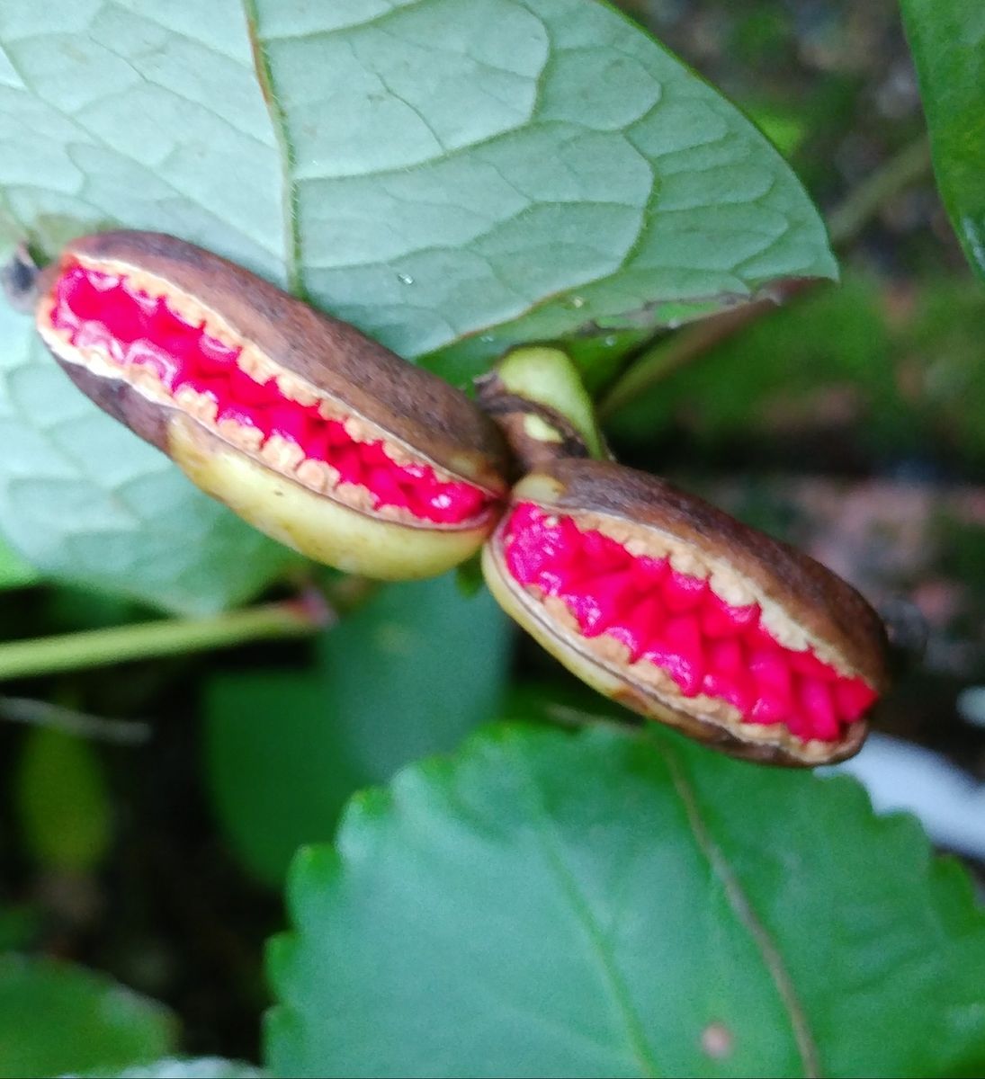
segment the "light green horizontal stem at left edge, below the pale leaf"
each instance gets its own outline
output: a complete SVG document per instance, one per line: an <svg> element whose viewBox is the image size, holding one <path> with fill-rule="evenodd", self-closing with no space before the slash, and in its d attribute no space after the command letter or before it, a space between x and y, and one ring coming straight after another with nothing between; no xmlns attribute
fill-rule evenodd
<svg viewBox="0 0 985 1079"><path fill-rule="evenodd" d="M324 623L325 612L303 599L211 618L165 619L12 641L0 644L0 680L230 648L249 641L307 637Z"/></svg>

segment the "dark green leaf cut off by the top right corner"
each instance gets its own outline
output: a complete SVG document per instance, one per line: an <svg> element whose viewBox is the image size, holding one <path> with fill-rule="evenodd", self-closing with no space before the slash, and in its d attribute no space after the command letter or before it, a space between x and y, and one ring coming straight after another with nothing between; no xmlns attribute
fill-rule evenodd
<svg viewBox="0 0 985 1079"><path fill-rule="evenodd" d="M937 185L968 261L985 278L985 6L902 0L902 8Z"/></svg>

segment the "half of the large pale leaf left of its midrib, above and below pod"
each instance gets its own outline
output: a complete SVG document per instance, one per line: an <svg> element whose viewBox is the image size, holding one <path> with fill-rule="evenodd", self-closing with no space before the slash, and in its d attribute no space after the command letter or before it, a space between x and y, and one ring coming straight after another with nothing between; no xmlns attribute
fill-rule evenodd
<svg viewBox="0 0 985 1079"><path fill-rule="evenodd" d="M0 255L104 228L173 232L283 282L281 160L242 10L0 8ZM0 312L0 529L42 572L183 613L294 561L90 405Z"/></svg>

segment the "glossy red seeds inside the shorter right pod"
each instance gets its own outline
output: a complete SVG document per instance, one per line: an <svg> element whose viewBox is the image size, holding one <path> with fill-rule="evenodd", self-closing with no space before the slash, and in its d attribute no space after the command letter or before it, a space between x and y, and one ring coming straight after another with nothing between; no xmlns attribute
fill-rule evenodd
<svg viewBox="0 0 985 1079"><path fill-rule="evenodd" d="M746 723L835 741L876 697L811 650L780 644L760 624L758 604L732 606L706 578L678 572L666 558L634 557L534 503L513 509L505 561L521 585L561 599L583 637L619 641L630 664L662 668L683 696L725 701Z"/></svg>

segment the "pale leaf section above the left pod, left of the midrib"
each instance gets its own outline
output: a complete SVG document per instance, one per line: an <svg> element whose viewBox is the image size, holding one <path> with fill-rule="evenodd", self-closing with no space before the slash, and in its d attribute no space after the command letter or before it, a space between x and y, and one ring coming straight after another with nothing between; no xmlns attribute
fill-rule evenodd
<svg viewBox="0 0 985 1079"><path fill-rule="evenodd" d="M122 224L286 279L281 153L237 0L4 2L0 131L8 249Z"/></svg>

